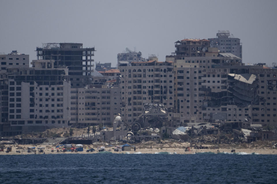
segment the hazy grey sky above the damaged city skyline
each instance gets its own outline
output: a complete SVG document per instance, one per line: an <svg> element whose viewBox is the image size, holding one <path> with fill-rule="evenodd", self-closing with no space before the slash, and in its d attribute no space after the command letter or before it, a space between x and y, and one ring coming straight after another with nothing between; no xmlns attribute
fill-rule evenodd
<svg viewBox="0 0 277 184"><path fill-rule="evenodd" d="M112 66L126 47L164 61L177 40L229 30L241 39L244 63L276 62L276 0L0 0L0 7L0 52L17 50L30 61L51 42L95 46L94 60Z"/></svg>

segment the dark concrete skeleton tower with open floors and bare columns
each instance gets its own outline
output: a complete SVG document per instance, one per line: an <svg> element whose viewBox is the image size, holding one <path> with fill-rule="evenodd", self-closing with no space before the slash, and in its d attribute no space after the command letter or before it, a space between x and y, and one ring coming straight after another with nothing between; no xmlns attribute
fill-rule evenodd
<svg viewBox="0 0 277 184"><path fill-rule="evenodd" d="M68 67L72 88L90 84L93 73L94 47L83 48L83 43L43 43L37 47L38 60L55 60L54 68Z"/></svg>

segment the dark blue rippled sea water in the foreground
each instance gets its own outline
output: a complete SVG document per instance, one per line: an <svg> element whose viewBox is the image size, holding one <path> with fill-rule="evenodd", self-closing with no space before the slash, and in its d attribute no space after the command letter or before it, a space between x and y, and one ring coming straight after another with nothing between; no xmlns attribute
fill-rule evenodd
<svg viewBox="0 0 277 184"><path fill-rule="evenodd" d="M277 183L277 155L0 155L0 183Z"/></svg>

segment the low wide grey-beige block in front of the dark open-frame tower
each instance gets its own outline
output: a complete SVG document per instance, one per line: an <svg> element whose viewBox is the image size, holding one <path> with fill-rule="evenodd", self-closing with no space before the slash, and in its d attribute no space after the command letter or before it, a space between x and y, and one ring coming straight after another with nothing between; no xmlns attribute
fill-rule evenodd
<svg viewBox="0 0 277 184"><path fill-rule="evenodd" d="M120 88L116 80L74 88L70 93L70 124L76 127L112 125L120 113Z"/></svg>

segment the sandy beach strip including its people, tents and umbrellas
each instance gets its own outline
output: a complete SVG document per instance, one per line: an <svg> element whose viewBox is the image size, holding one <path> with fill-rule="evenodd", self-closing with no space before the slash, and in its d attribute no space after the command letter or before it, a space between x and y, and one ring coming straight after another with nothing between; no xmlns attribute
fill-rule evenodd
<svg viewBox="0 0 277 184"><path fill-rule="evenodd" d="M135 146L134 146L135 145ZM176 154L195 154L201 152L212 152L212 153L233 153L242 152L246 154L277 154L276 149L268 147L260 148L214 148L209 145L203 145L202 149L192 149L189 147L188 143L176 144L151 144L151 145L141 145L134 144L132 149L128 151L122 150L119 146L114 145L113 147L104 147L108 145L84 145L82 151L78 151L75 145L72 145L70 149L65 147L59 148L59 145L2 145L5 149L0 150L0 155L18 155L18 154L94 154L100 151L109 151L112 153L145 153L145 154L155 154L157 152L171 152ZM31 150L32 151L28 151ZM135 149L134 149L135 148Z"/></svg>

